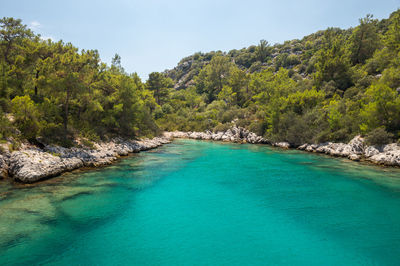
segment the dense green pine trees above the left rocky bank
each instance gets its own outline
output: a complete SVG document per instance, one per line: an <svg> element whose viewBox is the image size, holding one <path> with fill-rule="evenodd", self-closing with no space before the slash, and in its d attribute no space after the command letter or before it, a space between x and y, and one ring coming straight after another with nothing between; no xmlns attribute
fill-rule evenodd
<svg viewBox="0 0 400 266"><path fill-rule="evenodd" d="M155 135L156 102L137 74L96 50L43 40L20 20L0 20L0 138L70 145L111 136Z"/></svg>

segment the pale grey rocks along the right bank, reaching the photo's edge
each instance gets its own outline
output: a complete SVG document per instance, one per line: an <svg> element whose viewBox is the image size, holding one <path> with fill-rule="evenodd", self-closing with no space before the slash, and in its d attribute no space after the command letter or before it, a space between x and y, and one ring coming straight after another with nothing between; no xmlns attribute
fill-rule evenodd
<svg viewBox="0 0 400 266"><path fill-rule="evenodd" d="M400 166L400 146L397 143L367 146L361 136L354 137L347 144L334 142L304 144L297 149L346 157L353 161L366 160L380 165Z"/></svg>

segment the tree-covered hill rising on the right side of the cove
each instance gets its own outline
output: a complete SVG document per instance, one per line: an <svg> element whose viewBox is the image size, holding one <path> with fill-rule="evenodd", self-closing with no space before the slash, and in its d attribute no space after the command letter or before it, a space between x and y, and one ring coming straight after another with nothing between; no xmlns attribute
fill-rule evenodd
<svg viewBox="0 0 400 266"><path fill-rule="evenodd" d="M226 129L231 121L275 141L397 140L400 130L400 11L301 40L195 53L162 75L165 130ZM159 73L153 73L153 77ZM151 80L151 79L150 79ZM168 83L168 82L167 82Z"/></svg>

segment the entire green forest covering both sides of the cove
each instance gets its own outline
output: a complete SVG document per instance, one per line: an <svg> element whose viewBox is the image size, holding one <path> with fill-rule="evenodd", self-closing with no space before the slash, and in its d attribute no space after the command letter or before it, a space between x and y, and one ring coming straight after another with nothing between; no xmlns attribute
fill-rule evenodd
<svg viewBox="0 0 400 266"><path fill-rule="evenodd" d="M115 55L0 20L0 138L72 145L233 124L293 146L400 137L400 10L301 40L195 53L146 82Z"/></svg>

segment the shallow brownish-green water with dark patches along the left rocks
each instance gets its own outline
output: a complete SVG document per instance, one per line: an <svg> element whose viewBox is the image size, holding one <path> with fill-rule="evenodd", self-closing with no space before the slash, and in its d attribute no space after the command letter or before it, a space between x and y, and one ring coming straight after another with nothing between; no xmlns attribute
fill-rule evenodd
<svg viewBox="0 0 400 266"><path fill-rule="evenodd" d="M0 264L28 264L43 257L18 258L21 250L65 250L74 237L114 222L133 204L135 192L154 185L192 160L162 147L115 165L76 171L35 185L7 183L0 188ZM192 156L192 155L191 155ZM179 160L179 161L176 161ZM163 174L159 171L162 169ZM61 240L61 241L60 241ZM15 260L7 259L15 257Z"/></svg>

